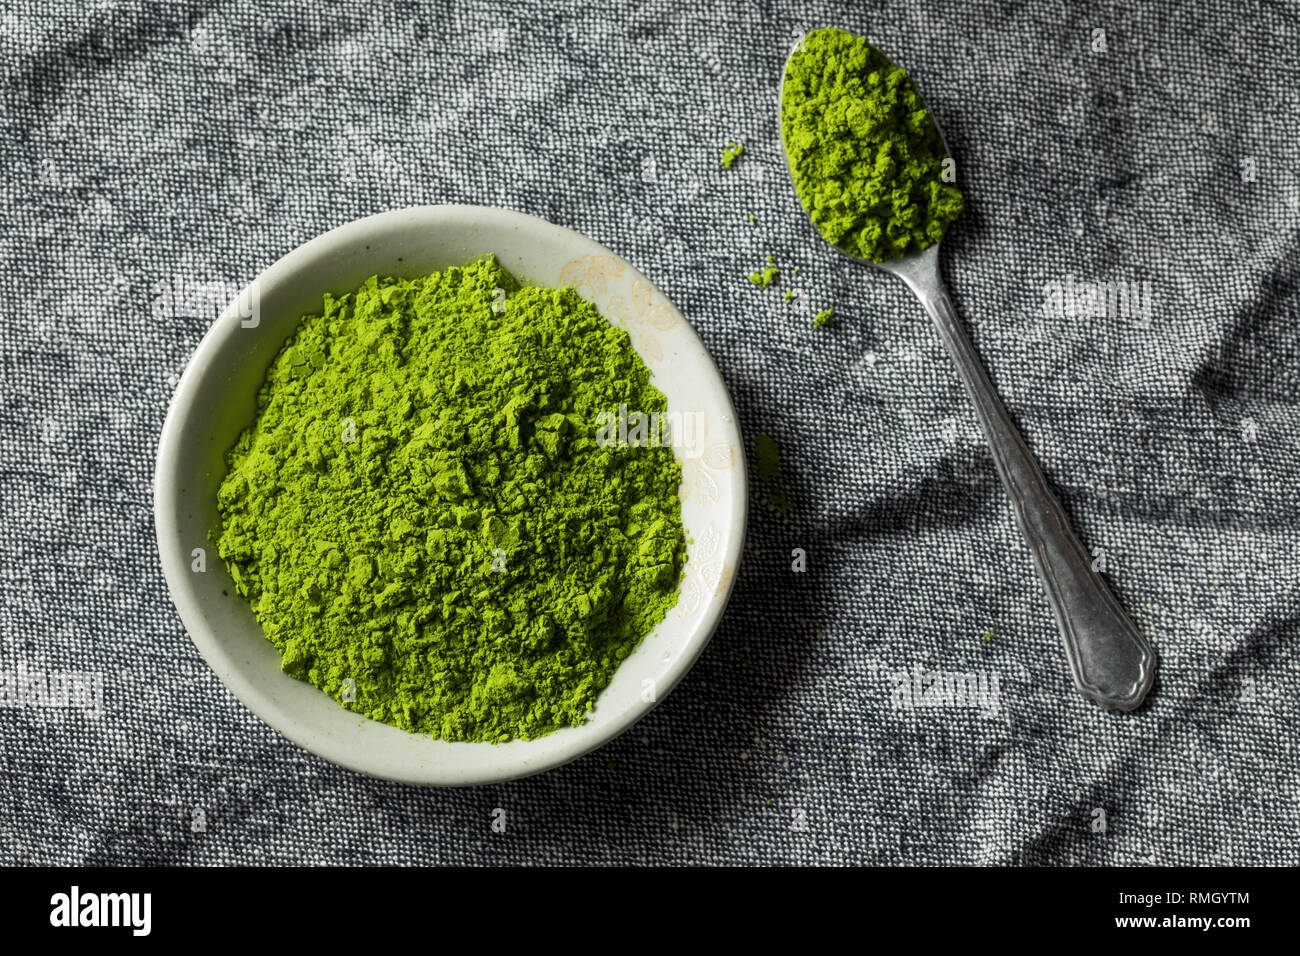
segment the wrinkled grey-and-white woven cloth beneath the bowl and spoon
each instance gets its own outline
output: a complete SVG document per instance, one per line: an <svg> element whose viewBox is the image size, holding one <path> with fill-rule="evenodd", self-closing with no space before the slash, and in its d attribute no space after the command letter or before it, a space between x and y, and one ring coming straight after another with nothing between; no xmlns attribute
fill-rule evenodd
<svg viewBox="0 0 1300 956"><path fill-rule="evenodd" d="M909 68L946 134L946 276L1157 648L1138 713L1074 692L920 307L798 208L777 83L823 25ZM0 709L0 862L1300 862L1297 77L1295 3L0 3L0 671L104 695ZM727 618L649 718L468 791L252 717L182 630L151 518L218 291L442 202L651 276L794 505L751 473ZM786 272L757 289L768 254ZM1084 281L1149 282L1149 315L1044 308ZM997 696L900 708L915 669Z"/></svg>

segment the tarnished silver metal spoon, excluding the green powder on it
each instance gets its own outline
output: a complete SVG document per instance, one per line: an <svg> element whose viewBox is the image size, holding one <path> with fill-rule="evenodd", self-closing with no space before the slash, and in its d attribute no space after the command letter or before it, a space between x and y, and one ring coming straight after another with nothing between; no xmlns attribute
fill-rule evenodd
<svg viewBox="0 0 1300 956"><path fill-rule="evenodd" d="M800 38L783 68L783 95L785 70L789 69L790 57L800 49L802 42ZM779 124L780 118L781 111L777 104ZM944 151L948 151L946 140ZM793 170L790 176L793 181ZM836 248L849 259L874 265L901 278L933 319L948 354L957 364L957 373L966 386L966 393L975 406L975 414L993 453L997 473L1011 498L1017 524L1034 554L1039 579L1061 628L1061 641L1070 662L1070 672L1074 675L1074 685L1084 697L1104 708L1135 709L1150 689L1156 653L1119 606L1110 588L1093 570L1088 553L1070 528L1061 502L1048 488L1043 470L1039 468L997 397L975 352L975 346L971 345L948 297L939 271L939 243L884 263L875 263Z"/></svg>

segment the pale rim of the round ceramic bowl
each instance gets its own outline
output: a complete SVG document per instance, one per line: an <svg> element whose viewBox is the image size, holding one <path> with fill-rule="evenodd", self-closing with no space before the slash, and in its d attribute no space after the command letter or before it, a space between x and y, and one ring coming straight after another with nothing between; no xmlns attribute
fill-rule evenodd
<svg viewBox="0 0 1300 956"><path fill-rule="evenodd" d="M312 731L313 724L299 717L291 705L285 704L282 700L278 700L273 692L264 691L240 675L240 669L246 665L242 665L238 661L237 654L231 652L228 643L221 639L216 628L213 628L202 614L200 600L196 591L190 584L192 575L186 571L188 566L187 558L181 555L172 546L172 542L178 537L179 524L174 515L178 515L185 498L185 496L178 490L178 483L172 480L172 473L177 470L179 457L183 451L183 420L192 414L192 407L195 405L195 399L198 398L200 378L204 375L211 356L220 351L220 345L228 337L238 334L239 323L231 321L231 319L238 317L239 303L247 300L246 297L248 295L250 289L282 281L283 277L287 277L299 269L311 268L313 263L316 263L316 260L318 260L329 250L338 248L341 245L363 242L368 234L373 234L381 228L393 225L396 220L419 220L428 224L430 228L445 228L455 220L467 216L473 217L480 222L490 222L497 226L515 229L526 228L541 233L551 232L556 238L563 238L569 243L585 246L589 255L611 256L629 269L633 276L642 278L654 293L663 297L663 299L670 303L672 310L681 319L685 333L694 339L696 347L698 347L699 354L708 363L722 386L720 393L722 402L725 407L725 419L731 423L731 428L737 438L733 442L733 453L736 457L734 470L737 472L734 480L734 494L731 497L731 507L725 515L728 524L736 529L731 546L724 555L729 561L732 571L727 576L722 588L714 593L712 600L708 601L702 609L702 617L694 626L693 636L671 662L663 676L656 680L656 692L653 696L653 700L645 700L644 696L638 696L633 706L629 706L621 713L616 713L607 718L606 722L601 724L599 734L592 732L588 735L589 739L577 739L569 745L555 745L551 748L552 753L549 756L532 758L525 765L521 765L519 761L502 761L500 765L494 765L494 770L485 770L477 774L439 774L437 762L434 762L432 767L410 767L408 770L394 766L377 769L374 763L368 763L365 758L359 758L356 749L350 748L346 743L334 740L328 735L315 734ZM396 272L399 271L395 271L394 274L396 274ZM325 290L322 290L322 294L324 291ZM162 576L166 581L168 593L172 597L172 602L177 609L181 623L185 627L186 633L190 636L190 640L194 643L203 659L225 684L226 689L277 734L332 763L380 779L390 779L419 786L443 787L468 787L500 783L563 766L564 763L577 760L578 757L610 743L630 728L650 710L658 706L658 704L662 702L686 675L699 658L701 653L703 653L705 646L712 639L727 605L731 601L731 596L734 592L736 578L738 576L740 564L744 557L749 514L748 498L749 489L745 468L744 436L740 431L740 421L736 416L734 403L732 402L731 393L727 389L727 382L718 371L718 365L705 346L703 339L699 338L699 333L690 325L690 323L685 321L685 317L681 315L677 306L672 303L672 299L664 295L658 285L655 285L649 277L645 276L645 273L637 269L627 259L573 229L568 229L567 226L556 225L538 216L532 216L514 209L459 203L402 207L351 220L335 226L334 229L321 233L304 243L300 243L263 269L263 272L259 273L247 286L244 286L239 295L237 295L235 299L233 299L230 304L228 304L226 308L217 316L208 330L203 334L194 351L186 359L185 369L172 393L166 416L159 433L153 468L155 540L159 548L159 559L162 568ZM289 675L285 675L285 678L286 680L294 680L294 678L290 678ZM369 719L361 714L355 715L360 721ZM550 735L543 735L536 740L550 740L556 734L563 734L563 730L564 728ZM455 741L455 745L498 747L497 744L477 741Z"/></svg>

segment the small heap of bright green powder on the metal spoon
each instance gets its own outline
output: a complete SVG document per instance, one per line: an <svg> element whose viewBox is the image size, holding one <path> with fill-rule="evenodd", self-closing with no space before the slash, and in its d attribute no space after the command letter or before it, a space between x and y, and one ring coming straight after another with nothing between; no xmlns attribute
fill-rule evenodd
<svg viewBox="0 0 1300 956"><path fill-rule="evenodd" d="M800 202L850 255L879 263L923 250L962 211L915 85L861 36L803 38L785 68L781 134Z"/></svg>

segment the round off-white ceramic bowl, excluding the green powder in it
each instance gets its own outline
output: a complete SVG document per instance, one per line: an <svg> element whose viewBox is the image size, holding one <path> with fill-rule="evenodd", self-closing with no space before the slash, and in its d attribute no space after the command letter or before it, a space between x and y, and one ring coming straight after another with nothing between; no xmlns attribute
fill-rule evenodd
<svg viewBox="0 0 1300 956"><path fill-rule="evenodd" d="M521 281L571 285L632 334L668 410L694 414L702 440L677 447L690 540L677 607L615 674L586 724L538 740L433 740L369 721L280 670L280 654L235 593L208 540L224 454L252 421L257 389L299 319L376 273L415 277L485 254ZM685 429L684 429L685 431ZM468 786L558 766L630 727L681 679L712 635L745 536L745 467L736 415L699 337L655 285L603 246L533 216L428 206L348 222L295 248L233 302L204 336L159 440L153 516L162 571L190 637L226 687L308 750L354 770L421 784ZM195 549L204 549L196 571Z"/></svg>

